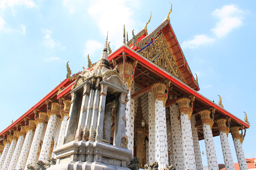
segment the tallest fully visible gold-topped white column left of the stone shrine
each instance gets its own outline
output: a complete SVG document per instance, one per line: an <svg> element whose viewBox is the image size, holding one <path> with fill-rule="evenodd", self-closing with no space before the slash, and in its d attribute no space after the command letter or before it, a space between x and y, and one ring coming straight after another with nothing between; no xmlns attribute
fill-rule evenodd
<svg viewBox="0 0 256 170"><path fill-rule="evenodd" d="M52 156L52 155L49 155L50 154L49 151L51 147L51 144L49 143L52 143L52 140L53 140L53 131L55 128L56 120L59 119L58 118L59 109L60 109L60 105L58 103L52 103L51 111L50 113L48 113L49 121L47 124L40 156L38 159L38 160L42 160L43 162L46 162L47 158L49 156Z"/></svg>

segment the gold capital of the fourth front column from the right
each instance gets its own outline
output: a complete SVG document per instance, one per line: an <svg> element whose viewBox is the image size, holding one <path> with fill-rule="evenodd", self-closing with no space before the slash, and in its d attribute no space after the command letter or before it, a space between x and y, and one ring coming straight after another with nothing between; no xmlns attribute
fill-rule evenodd
<svg viewBox="0 0 256 170"><path fill-rule="evenodd" d="M183 97L181 99L177 100L180 116L181 114L188 115L188 119L190 120L192 112L193 112L193 101L195 99L195 96L192 96L192 98Z"/></svg>

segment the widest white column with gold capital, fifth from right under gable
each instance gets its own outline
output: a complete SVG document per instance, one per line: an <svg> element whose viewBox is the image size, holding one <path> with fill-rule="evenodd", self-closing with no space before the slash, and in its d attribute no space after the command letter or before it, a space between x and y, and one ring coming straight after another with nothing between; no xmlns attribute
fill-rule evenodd
<svg viewBox="0 0 256 170"><path fill-rule="evenodd" d="M165 83L155 83L152 85L155 98L155 161L158 162L160 170L169 164L168 147L166 144L167 132L165 116L165 103L168 97L168 85Z"/></svg>

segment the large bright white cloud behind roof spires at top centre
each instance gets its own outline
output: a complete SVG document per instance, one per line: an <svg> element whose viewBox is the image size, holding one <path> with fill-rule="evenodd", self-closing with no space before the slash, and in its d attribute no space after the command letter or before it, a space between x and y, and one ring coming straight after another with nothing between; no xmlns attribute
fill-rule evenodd
<svg viewBox="0 0 256 170"><path fill-rule="evenodd" d="M133 29L136 30L136 22L132 19L134 18L132 17L134 11L128 7L128 5L132 4L131 1L94 0L90 1L90 3L88 13L97 22L102 35L106 36L108 31L109 42L111 42L113 46L112 51L123 42L124 24L126 31L129 33L131 33Z"/></svg>

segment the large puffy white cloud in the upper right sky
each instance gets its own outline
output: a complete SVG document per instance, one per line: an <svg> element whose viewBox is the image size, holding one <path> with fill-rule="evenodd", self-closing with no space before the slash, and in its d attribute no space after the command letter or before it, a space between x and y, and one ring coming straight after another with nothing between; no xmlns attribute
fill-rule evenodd
<svg viewBox="0 0 256 170"><path fill-rule="evenodd" d="M234 4L224 5L221 9L214 10L212 15L218 17L220 21L216 23L216 27L211 29L211 31L214 32L218 38L226 36L233 29L243 24L242 14L243 11Z"/></svg>

